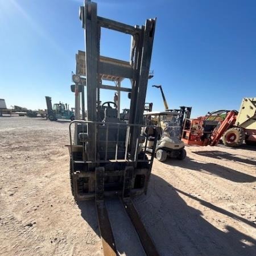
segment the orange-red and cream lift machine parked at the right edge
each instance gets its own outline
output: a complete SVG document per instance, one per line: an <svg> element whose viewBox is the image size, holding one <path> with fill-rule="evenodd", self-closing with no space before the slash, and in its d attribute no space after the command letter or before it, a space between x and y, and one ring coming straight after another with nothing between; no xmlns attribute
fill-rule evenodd
<svg viewBox="0 0 256 256"><path fill-rule="evenodd" d="M204 117L185 119L182 140L185 144L237 147L244 141L256 143L256 98L243 98L239 112L218 110Z"/></svg>

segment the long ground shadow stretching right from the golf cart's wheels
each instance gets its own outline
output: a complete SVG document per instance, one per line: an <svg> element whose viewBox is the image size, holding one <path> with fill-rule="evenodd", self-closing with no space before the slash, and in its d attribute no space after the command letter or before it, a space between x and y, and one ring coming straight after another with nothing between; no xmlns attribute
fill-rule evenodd
<svg viewBox="0 0 256 256"><path fill-rule="evenodd" d="M219 164L215 163L199 163L196 162L194 159L189 158L188 156L182 161L176 159L168 159L164 163L192 171L209 172L212 175L216 175L222 177L223 179L227 179L237 183L251 183L256 181L256 177L254 176L243 174L242 172L238 172L236 170L233 170L232 168L220 166Z"/></svg>

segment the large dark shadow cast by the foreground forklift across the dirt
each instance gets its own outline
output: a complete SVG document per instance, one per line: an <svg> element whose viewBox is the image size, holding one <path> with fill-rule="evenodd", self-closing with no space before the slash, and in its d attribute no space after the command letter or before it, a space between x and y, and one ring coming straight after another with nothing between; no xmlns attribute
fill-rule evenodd
<svg viewBox="0 0 256 256"><path fill-rule="evenodd" d="M233 226L226 225L225 230L213 226L203 218L200 210L188 206L178 192L217 213L241 221L248 226L256 227L253 222L245 218L180 191L161 177L151 175L147 196L137 197L134 199L134 204L161 256L256 255L256 241L253 238L246 236ZM108 201L109 212L116 209L115 204L116 201ZM78 206L81 209L81 216L100 236L94 202L84 201L78 203ZM119 218L119 210L113 215L114 218ZM122 209L120 213L121 211ZM112 214L110 213L111 222L113 221ZM218 214L218 218L220 218L218 221L223 222L220 214ZM129 219L126 221L129 222ZM218 222L215 221L215 223ZM141 253L134 253L132 249L134 236L136 236L134 232L129 234L130 230L126 229L124 223L120 223L118 226L116 223L114 225L112 223L113 227L114 229L121 229L119 234L123 233L121 236L125 237L125 245L117 246L119 253L124 253L126 256L142 255ZM120 237L115 237L115 240L120 239Z"/></svg>

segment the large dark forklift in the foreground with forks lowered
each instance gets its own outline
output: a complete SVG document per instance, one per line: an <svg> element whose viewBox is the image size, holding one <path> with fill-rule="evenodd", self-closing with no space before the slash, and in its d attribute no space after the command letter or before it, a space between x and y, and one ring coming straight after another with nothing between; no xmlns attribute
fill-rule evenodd
<svg viewBox="0 0 256 256"><path fill-rule="evenodd" d="M98 16L97 4L89 0L80 8L80 19L85 52L76 55L76 72L72 75L75 121L69 125L71 191L76 201L96 201L104 255L119 255L105 206L106 197L118 196L146 255L158 256L132 201L147 192L154 160L155 149L148 156L142 144L158 133L156 127L149 129L143 123L156 19L147 19L144 26L130 26ZM101 28L131 35L130 61L100 55ZM122 86L124 79L130 79L131 88ZM117 86L109 85L109 81ZM118 102L101 102L101 89L127 92L128 122L118 117Z"/></svg>

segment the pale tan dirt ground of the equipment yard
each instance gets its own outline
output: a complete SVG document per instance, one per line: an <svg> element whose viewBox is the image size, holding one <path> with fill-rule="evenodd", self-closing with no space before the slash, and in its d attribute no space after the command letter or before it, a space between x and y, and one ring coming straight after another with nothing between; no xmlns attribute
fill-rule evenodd
<svg viewBox="0 0 256 256"><path fill-rule="evenodd" d="M0 255L102 255L93 202L69 187L68 122L0 118ZM154 161L134 200L160 255L256 255L256 147L187 147ZM108 201L120 255L143 255L117 201ZM141 250L142 251L142 250Z"/></svg>

